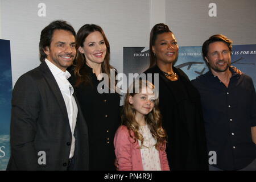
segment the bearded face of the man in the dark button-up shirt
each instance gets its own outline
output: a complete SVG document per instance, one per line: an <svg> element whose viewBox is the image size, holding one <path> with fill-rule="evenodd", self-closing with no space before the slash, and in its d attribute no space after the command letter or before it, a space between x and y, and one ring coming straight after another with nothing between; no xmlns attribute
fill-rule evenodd
<svg viewBox="0 0 256 182"><path fill-rule="evenodd" d="M231 64L229 47L224 42L213 42L209 44L207 60L212 72L225 72Z"/></svg>

